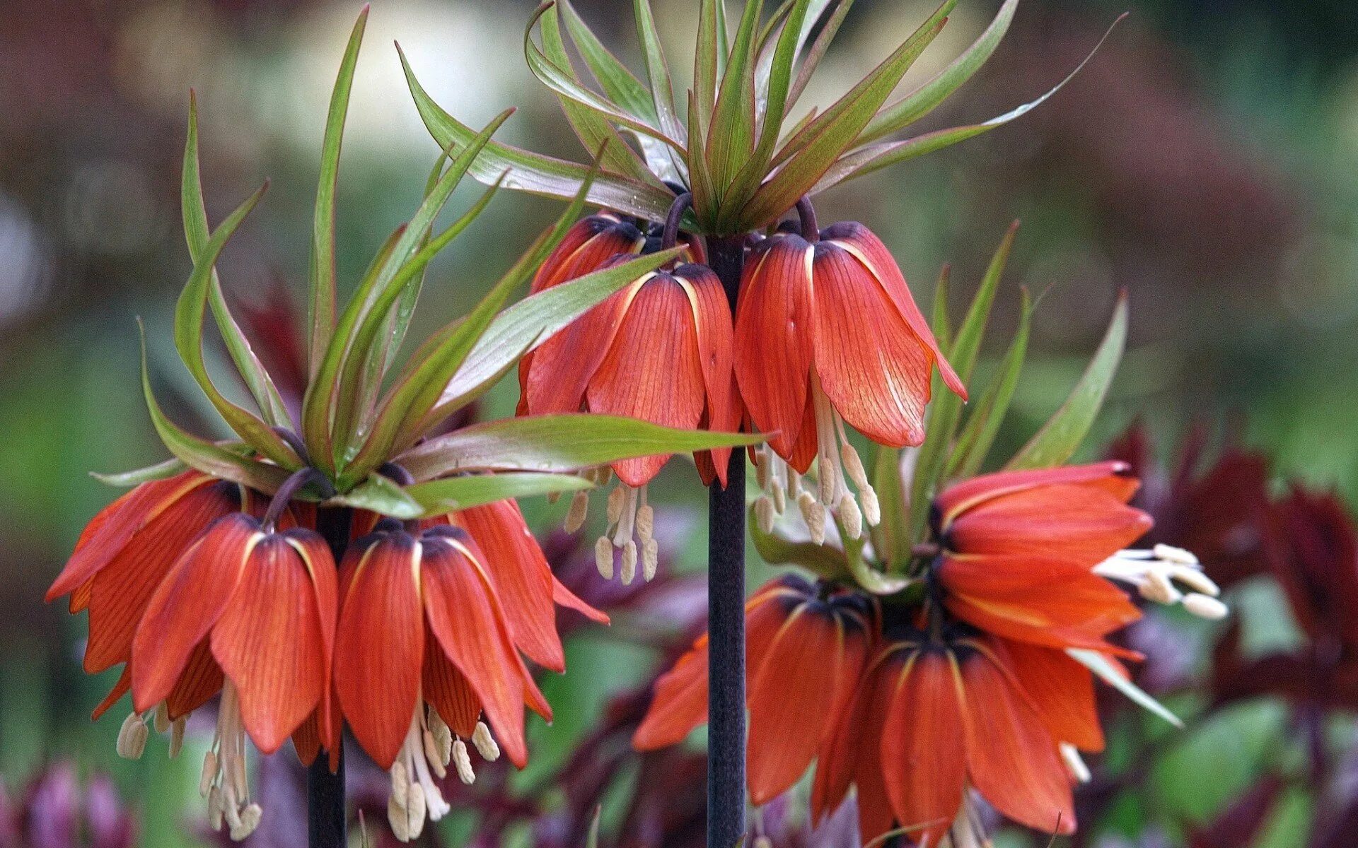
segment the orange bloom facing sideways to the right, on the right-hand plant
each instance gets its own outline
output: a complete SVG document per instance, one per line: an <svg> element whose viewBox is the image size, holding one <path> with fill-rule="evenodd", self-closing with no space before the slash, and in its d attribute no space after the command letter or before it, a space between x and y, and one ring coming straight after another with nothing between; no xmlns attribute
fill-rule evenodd
<svg viewBox="0 0 1358 848"><path fill-rule="evenodd" d="M934 575L948 611L983 631L1050 647L1109 650L1104 636L1141 617L1096 573L1143 536L1127 506L1124 463L987 474L934 503Z"/></svg>

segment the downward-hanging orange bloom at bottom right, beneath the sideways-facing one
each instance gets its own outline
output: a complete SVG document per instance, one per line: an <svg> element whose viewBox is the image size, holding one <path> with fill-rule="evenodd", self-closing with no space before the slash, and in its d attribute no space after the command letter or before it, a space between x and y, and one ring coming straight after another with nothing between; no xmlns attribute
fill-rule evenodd
<svg viewBox="0 0 1358 848"><path fill-rule="evenodd" d="M955 821L974 826L970 787L1020 824L1071 833L1071 776L1054 731L1099 734L1086 681L1061 651L964 628L945 639L899 628L820 758L812 815L834 811L853 783L864 840L910 828L919 848L933 848Z"/></svg>

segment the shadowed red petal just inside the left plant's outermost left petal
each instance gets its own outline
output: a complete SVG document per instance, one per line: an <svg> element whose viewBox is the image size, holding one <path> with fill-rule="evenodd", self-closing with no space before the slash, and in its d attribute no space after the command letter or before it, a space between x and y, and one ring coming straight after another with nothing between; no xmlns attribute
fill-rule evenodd
<svg viewBox="0 0 1358 848"><path fill-rule="evenodd" d="M151 594L204 528L239 509L239 488L219 482L183 493L148 516L143 529L91 581L86 672L128 661Z"/></svg>

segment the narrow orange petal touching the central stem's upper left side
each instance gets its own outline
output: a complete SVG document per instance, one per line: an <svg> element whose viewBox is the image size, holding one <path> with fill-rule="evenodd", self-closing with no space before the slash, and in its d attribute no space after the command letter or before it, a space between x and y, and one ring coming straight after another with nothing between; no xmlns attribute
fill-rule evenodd
<svg viewBox="0 0 1358 848"><path fill-rule="evenodd" d="M735 338L727 290L717 274L701 265L679 267L675 278L689 294L694 327L698 330L698 358L702 364L702 381L708 388L708 429L735 433L740 427L740 400L732 370ZM702 453L709 456L717 479L725 486L731 448Z"/></svg>

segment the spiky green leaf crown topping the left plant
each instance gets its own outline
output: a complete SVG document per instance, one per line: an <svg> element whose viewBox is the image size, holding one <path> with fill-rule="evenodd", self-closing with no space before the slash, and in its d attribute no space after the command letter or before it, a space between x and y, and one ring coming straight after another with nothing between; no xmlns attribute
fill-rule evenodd
<svg viewBox="0 0 1358 848"><path fill-rule="evenodd" d="M174 341L193 379L238 438L205 441L166 418L151 392L143 357L143 388L152 423L175 459L100 479L133 486L191 467L273 494L291 474L312 467L322 472L323 482L308 483L300 493L304 498L417 518L519 495L588 487L572 472L600 463L758 442L756 436L669 430L630 418L559 415L479 425L421 444L451 414L512 370L526 353L629 282L672 261L679 251L659 251L587 274L501 311L580 216L595 178L610 179L602 166L623 161L618 156L626 148L606 144L610 136L604 133L599 137L595 166L570 171L573 189L564 197L572 202L558 223L470 313L437 330L398 366L429 262L481 214L501 183L517 185L517 171L500 167L490 175L483 170L485 153L497 149L490 137L509 111L479 133L449 140L414 216L378 251L349 303L338 304L335 183L365 22L367 9L349 38L322 142L307 275L310 379L300 399L300 421L292 421L274 381L231 316L215 270L227 242L268 186L210 229L198 170L197 102L190 98L181 191L194 269L175 308ZM459 220L436 232L439 213L469 172L490 182L492 189ZM659 182L656 186L668 191ZM202 335L209 309L254 410L230 402L208 373Z"/></svg>

